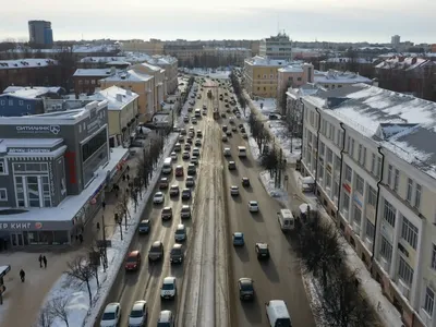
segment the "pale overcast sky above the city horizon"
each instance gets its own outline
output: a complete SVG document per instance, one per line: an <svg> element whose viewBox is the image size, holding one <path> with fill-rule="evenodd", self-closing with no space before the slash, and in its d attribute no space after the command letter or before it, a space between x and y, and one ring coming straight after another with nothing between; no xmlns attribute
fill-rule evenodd
<svg viewBox="0 0 436 327"><path fill-rule="evenodd" d="M154 2L154 3L153 3ZM51 21L55 40L94 38L436 43L435 0L14 0L2 7L0 39L28 39L27 21ZM207 4L206 4L207 3Z"/></svg>

